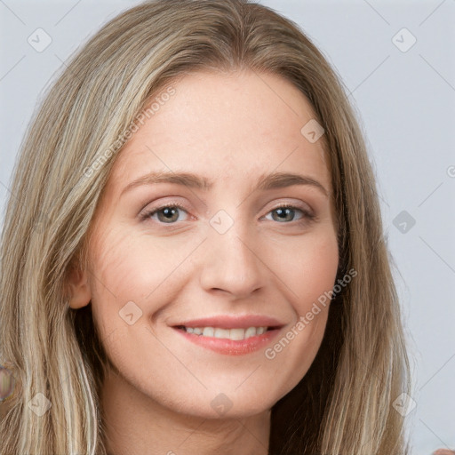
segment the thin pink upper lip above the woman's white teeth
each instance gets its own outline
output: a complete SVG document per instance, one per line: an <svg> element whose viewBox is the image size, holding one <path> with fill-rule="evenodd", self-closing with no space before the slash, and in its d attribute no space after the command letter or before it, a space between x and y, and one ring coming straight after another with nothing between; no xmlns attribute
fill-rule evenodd
<svg viewBox="0 0 455 455"><path fill-rule="evenodd" d="M283 323L267 315L214 315L200 319L192 319L177 324L174 327L217 327L220 329L248 329L248 327L281 328Z"/></svg>

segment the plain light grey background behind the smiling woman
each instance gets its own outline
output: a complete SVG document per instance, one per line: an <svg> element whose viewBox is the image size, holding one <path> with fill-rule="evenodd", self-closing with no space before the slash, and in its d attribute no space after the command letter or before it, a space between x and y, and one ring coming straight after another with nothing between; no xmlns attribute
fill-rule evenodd
<svg viewBox="0 0 455 455"><path fill-rule="evenodd" d="M0 0L0 220L44 87L102 24L138 3ZM413 453L455 448L455 0L261 3L297 22L352 92L378 178L411 349ZM52 38L43 52L28 44L42 34L37 28Z"/></svg>

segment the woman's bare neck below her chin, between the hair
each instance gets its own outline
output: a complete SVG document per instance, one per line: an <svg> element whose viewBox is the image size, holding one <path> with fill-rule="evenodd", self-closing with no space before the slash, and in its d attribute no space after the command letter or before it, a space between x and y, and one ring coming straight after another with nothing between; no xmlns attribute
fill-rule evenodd
<svg viewBox="0 0 455 455"><path fill-rule="evenodd" d="M271 411L204 419L157 403L110 370L101 407L108 455L267 455Z"/></svg>

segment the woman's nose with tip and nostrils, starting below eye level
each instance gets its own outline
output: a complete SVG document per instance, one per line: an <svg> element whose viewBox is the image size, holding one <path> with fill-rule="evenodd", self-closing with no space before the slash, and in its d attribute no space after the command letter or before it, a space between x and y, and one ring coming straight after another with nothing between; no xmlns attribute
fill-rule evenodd
<svg viewBox="0 0 455 455"><path fill-rule="evenodd" d="M205 248L200 277L205 291L223 291L244 299L263 287L267 267L250 236L239 235L234 227L224 234L212 231Z"/></svg>

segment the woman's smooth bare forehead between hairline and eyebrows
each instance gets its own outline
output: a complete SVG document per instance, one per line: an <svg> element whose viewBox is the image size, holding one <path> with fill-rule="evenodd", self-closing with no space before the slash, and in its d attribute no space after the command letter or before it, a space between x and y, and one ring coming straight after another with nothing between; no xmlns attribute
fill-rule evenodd
<svg viewBox="0 0 455 455"><path fill-rule="evenodd" d="M313 108L282 76L197 72L162 92L171 87L172 96L152 97L150 106L160 102L120 152L111 180L185 170L240 183L267 172L300 171L330 191L323 140L312 143L301 132L315 119Z"/></svg>

